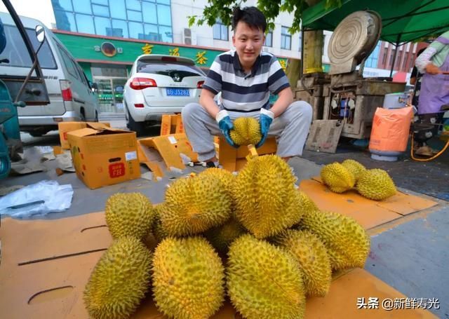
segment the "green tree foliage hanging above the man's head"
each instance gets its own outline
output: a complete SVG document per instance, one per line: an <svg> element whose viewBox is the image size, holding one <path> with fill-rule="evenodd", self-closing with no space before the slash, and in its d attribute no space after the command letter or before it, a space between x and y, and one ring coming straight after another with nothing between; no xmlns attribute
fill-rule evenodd
<svg viewBox="0 0 449 319"><path fill-rule="evenodd" d="M326 8L341 6L342 0L325 0ZM293 13L293 24L290 27L290 33L294 34L300 31L302 13L309 7L310 0L258 0L257 8L264 13L267 18L267 30L274 29L274 19L281 12ZM215 25L218 19L224 25L231 25L232 10L235 6L247 6L245 1L236 0L208 0L208 4L203 10L203 15L189 16L189 27L192 25Z"/></svg>

